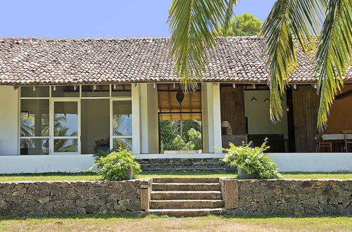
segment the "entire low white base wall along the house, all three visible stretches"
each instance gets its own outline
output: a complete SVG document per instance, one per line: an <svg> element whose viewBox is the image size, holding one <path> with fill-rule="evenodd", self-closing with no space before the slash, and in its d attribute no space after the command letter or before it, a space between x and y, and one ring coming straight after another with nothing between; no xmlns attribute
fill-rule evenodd
<svg viewBox="0 0 352 232"><path fill-rule="evenodd" d="M139 154L137 159L219 158L222 153ZM352 153L272 153L279 172L352 172ZM0 155L0 174L81 172L92 167L92 155Z"/></svg>

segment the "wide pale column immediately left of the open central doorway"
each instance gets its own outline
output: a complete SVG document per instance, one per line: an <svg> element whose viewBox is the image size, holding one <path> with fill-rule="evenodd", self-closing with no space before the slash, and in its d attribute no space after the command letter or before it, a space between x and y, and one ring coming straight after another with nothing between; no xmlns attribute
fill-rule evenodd
<svg viewBox="0 0 352 232"><path fill-rule="evenodd" d="M158 90L153 84L140 84L142 153L158 153Z"/></svg>

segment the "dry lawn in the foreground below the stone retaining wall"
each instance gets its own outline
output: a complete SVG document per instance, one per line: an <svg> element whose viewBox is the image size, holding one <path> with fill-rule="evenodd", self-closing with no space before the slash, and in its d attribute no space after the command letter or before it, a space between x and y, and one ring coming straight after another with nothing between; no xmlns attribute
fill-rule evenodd
<svg viewBox="0 0 352 232"><path fill-rule="evenodd" d="M0 218L0 231L351 231L351 217L173 218L89 214L77 217Z"/></svg>

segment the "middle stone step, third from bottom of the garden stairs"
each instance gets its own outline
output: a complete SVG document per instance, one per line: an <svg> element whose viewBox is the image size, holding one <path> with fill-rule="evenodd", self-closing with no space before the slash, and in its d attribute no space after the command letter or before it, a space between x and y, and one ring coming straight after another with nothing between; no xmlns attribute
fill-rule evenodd
<svg viewBox="0 0 352 232"><path fill-rule="evenodd" d="M220 191L152 191L151 200L221 200Z"/></svg>

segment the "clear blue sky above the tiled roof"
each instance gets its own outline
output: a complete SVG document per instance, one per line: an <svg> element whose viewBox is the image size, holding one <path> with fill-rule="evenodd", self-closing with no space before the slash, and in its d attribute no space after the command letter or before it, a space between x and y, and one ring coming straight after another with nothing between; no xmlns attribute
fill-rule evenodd
<svg viewBox="0 0 352 232"><path fill-rule="evenodd" d="M275 0L241 0L265 20ZM0 37L168 37L171 0L0 0Z"/></svg>

